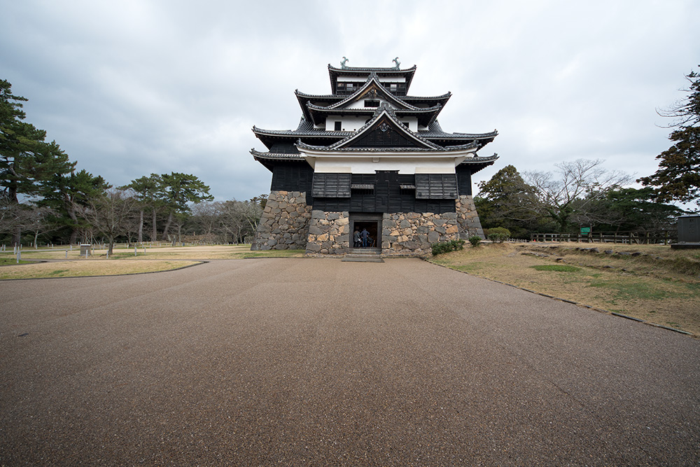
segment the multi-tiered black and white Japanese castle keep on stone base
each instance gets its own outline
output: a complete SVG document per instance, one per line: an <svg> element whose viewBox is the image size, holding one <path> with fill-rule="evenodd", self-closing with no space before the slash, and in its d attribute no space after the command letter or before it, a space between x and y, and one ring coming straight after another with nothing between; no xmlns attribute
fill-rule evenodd
<svg viewBox="0 0 700 467"><path fill-rule="evenodd" d="M267 151L251 154L272 186L251 248L416 256L435 242L483 237L471 176L498 158L477 155L498 132L444 132L437 116L451 94L409 95L415 65L345 62L328 65L330 94L295 91L296 130L253 127ZM357 244L355 230L367 239Z"/></svg>

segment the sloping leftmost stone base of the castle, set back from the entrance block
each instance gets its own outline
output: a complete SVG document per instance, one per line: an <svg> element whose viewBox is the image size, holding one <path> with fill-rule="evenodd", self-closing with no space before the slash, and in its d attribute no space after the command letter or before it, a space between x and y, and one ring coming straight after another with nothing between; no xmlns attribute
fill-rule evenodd
<svg viewBox="0 0 700 467"><path fill-rule="evenodd" d="M262 211L251 250L305 249L311 207L306 193L272 191Z"/></svg>

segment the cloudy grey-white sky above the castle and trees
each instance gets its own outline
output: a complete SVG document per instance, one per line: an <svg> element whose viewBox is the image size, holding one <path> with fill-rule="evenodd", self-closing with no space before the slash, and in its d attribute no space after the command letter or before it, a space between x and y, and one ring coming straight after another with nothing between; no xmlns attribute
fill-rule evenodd
<svg viewBox="0 0 700 467"><path fill-rule="evenodd" d="M636 176L670 142L657 115L700 64L700 2L0 0L0 78L27 122L115 186L195 174L216 200L269 193L253 125L297 126L328 64L417 65L452 97L447 132L498 130L498 169L603 159ZM476 187L475 187L476 190Z"/></svg>

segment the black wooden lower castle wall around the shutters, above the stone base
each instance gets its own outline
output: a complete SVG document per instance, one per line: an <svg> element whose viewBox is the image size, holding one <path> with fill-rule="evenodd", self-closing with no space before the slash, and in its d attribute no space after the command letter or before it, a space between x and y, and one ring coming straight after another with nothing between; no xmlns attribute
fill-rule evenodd
<svg viewBox="0 0 700 467"><path fill-rule="evenodd" d="M398 171L352 174L351 186L359 188L351 188L350 197L314 197L313 186L314 169L306 162L281 162L274 166L271 190L305 192L307 204L321 211L437 214L455 211L454 197L444 200L416 198L416 176L399 174ZM319 186L323 186L323 183L316 183L317 192ZM372 189L366 188L367 186L372 186ZM472 194L471 171L468 167L457 167L456 188L457 195Z"/></svg>

